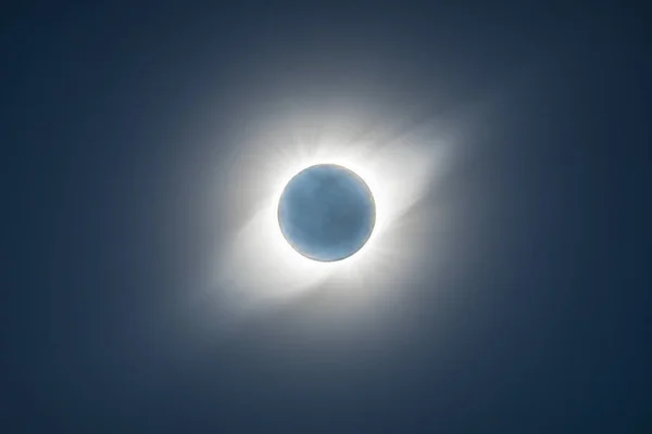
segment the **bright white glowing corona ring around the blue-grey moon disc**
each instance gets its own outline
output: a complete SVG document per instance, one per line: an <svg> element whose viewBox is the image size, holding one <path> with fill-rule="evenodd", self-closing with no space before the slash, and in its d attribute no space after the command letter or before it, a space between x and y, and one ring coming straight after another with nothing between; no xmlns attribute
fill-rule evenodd
<svg viewBox="0 0 652 434"><path fill-rule="evenodd" d="M441 222L442 214L423 212L423 222L415 222L411 210L429 193L448 156L448 146L431 126L399 138L381 130L361 137L355 126L344 128L334 117L322 116L328 122L316 129L305 115L290 117L294 125L271 117L253 129L229 167L231 203L240 207L231 216L233 239L216 258L213 285L221 304L235 310L287 303L325 281L336 281L343 297L381 291L410 272L410 264L423 256L426 235ZM348 168L374 195L372 234L343 260L324 263L301 255L278 225L278 203L289 180L319 164ZM410 221L404 218L409 214Z"/></svg>

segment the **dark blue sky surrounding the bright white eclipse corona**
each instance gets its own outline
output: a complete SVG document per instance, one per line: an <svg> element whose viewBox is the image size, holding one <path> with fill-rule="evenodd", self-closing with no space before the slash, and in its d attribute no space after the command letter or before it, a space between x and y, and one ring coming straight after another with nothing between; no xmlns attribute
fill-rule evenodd
<svg viewBox="0 0 652 434"><path fill-rule="evenodd" d="M642 3L273 3L4 7L0 432L652 432ZM201 174L260 106L356 89L479 105L450 268L387 341L302 335L301 305L192 337L164 307L211 248Z"/></svg>

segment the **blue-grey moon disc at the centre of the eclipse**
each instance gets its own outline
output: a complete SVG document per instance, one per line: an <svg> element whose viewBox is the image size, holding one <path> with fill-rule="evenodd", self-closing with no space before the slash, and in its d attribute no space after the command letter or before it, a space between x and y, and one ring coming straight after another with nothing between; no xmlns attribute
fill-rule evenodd
<svg viewBox="0 0 652 434"><path fill-rule="evenodd" d="M335 164L296 175L278 204L280 231L301 255L324 263L348 258L364 246L376 222L367 184Z"/></svg>

